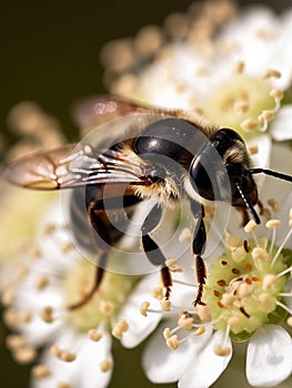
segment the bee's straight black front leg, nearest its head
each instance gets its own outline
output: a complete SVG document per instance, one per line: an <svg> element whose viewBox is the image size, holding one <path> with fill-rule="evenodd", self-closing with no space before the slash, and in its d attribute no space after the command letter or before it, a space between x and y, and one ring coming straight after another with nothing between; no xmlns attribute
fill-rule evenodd
<svg viewBox="0 0 292 388"><path fill-rule="evenodd" d="M192 243L192 252L195 256L195 272L197 272L197 279L198 279L198 293L195 300L193 302L193 305L204 305L202 302L203 296L203 289L205 285L205 278L207 278L207 269L205 264L202 258L202 255L204 253L205 248L205 241L207 241L207 234L205 234L205 226L204 226L204 208L203 205L197 203L195 201L191 201L191 211L197 219L194 234L193 234L193 243Z"/></svg>

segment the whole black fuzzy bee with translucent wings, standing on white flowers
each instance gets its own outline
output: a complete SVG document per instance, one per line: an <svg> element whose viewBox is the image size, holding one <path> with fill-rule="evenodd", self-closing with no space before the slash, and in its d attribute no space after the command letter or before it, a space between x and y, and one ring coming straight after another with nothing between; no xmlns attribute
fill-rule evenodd
<svg viewBox="0 0 292 388"><path fill-rule="evenodd" d="M111 252L123 236L124 215L138 204L155 204L141 223L142 248L159 266L164 297L171 295L172 276L159 244L151 236L164 208L187 198L195 221L191 244L198 292L194 306L204 304L207 282L205 206L217 201L243 210L260 224L260 205L253 175L268 174L292 182L292 176L253 167L243 139L232 129L207 124L195 113L140 105L114 96L92 100L78 112L82 124L100 125L93 144L82 141L39 152L7 166L13 184L36 190L74 188L71 222L80 244L94 231L99 257L91 290L70 309L83 306L99 289ZM113 120L123 118L121 120ZM80 205L82 204L82 206ZM115 214L112 222L111 214Z"/></svg>

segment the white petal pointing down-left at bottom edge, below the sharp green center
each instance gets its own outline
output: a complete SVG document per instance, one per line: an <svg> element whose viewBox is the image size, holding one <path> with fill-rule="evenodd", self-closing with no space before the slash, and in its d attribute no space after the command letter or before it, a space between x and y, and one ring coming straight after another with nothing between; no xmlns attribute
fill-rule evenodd
<svg viewBox="0 0 292 388"><path fill-rule="evenodd" d="M214 346L222 344L223 336L222 331L217 331L204 349L191 360L179 381L179 388L207 388L219 378L232 356L232 351L225 357L218 356L214 353ZM225 346L232 349L230 338L228 338Z"/></svg>

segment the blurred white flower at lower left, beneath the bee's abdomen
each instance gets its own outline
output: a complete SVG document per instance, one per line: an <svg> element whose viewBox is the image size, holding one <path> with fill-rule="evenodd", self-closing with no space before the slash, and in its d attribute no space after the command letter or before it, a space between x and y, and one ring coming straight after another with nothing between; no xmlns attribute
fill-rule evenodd
<svg viewBox="0 0 292 388"><path fill-rule="evenodd" d="M129 323L120 312L137 277L107 272L99 292L71 309L90 289L95 266L80 256L69 231L60 204L53 204L42 218L36 247L24 251L18 265L1 268L4 321L18 331L7 345L20 364L34 361L37 348L44 347L32 367L32 387L107 387L113 370L111 336L121 339L129 325L140 325L139 309Z"/></svg>

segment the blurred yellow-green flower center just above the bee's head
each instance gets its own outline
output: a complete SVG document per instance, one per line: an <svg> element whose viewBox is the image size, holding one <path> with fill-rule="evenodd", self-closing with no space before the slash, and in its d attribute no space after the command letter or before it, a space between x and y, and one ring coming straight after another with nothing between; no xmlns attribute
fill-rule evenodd
<svg viewBox="0 0 292 388"><path fill-rule="evenodd" d="M231 126L243 134L242 123L245 120L256 122L263 111L274 108L275 102L270 92L271 85L266 80L234 74L211 93L202 106L204 115L211 122Z"/></svg>

